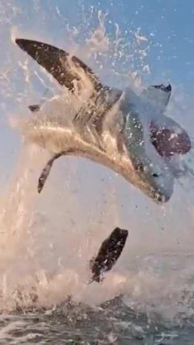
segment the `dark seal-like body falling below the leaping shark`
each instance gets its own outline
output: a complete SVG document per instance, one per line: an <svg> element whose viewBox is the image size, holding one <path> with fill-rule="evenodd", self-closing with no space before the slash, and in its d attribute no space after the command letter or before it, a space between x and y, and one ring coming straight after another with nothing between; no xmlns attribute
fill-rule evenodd
<svg viewBox="0 0 194 345"><path fill-rule="evenodd" d="M94 280L97 282L102 281L103 274L110 271L122 253L128 234L128 230L116 228L109 237L102 242L96 259L90 261L90 268L93 276L89 283Z"/></svg>

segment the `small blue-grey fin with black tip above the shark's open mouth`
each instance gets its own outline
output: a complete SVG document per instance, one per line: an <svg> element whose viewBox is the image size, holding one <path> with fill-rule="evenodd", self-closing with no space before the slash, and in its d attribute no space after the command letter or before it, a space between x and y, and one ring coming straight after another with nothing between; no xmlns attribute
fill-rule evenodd
<svg viewBox="0 0 194 345"><path fill-rule="evenodd" d="M165 111L170 95L171 95L172 87L170 84L167 86L161 85L152 85L147 87L143 92L142 96L146 97L146 99L160 108L162 112Z"/></svg>

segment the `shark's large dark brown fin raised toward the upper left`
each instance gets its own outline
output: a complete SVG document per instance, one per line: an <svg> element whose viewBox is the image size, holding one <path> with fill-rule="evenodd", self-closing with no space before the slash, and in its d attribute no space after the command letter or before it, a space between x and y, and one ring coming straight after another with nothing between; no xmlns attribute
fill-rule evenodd
<svg viewBox="0 0 194 345"><path fill-rule="evenodd" d="M96 91L103 88L92 69L76 56L70 56L65 50L23 38L16 38L16 44L71 92L75 91L74 82L79 82L82 78L80 69L84 71L85 77L92 82Z"/></svg>

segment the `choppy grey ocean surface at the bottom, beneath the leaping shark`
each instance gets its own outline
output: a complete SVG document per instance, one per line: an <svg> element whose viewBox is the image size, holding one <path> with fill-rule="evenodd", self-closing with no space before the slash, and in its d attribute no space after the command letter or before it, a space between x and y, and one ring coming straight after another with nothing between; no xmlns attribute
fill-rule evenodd
<svg viewBox="0 0 194 345"><path fill-rule="evenodd" d="M31 293L31 302L28 296L28 306L24 306L27 296L17 291L16 310L0 315L0 344L192 345L194 275L190 279L183 276L193 261L191 253L164 253L131 259L131 280L138 265L146 270L154 263L152 274L148 277L142 271L136 276L132 294L126 289L95 306L86 301L74 302L71 296L64 294L63 302L40 308L35 290ZM177 282L174 281L174 285L171 278L175 275ZM118 277L113 278L118 283ZM125 278L119 277L121 290L124 281L126 284ZM110 280L109 283L111 290ZM130 281L128 284L130 286ZM92 290L95 286L91 284L89 288ZM19 305L22 299L23 307Z"/></svg>

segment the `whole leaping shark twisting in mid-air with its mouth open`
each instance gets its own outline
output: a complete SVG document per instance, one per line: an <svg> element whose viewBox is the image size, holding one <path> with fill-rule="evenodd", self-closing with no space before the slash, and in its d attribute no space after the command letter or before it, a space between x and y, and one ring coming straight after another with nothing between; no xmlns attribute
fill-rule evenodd
<svg viewBox="0 0 194 345"><path fill-rule="evenodd" d="M30 133L33 142L52 153L38 192L55 159L75 155L113 169L157 203L168 201L176 178L172 157L191 148L186 131L164 114L171 85L150 86L138 96L131 88L102 85L90 67L62 49L20 38L16 44L81 99L77 114L67 115L67 125L42 124ZM92 88L86 97L87 85ZM37 113L40 107L29 108Z"/></svg>

